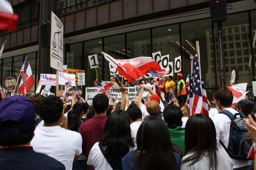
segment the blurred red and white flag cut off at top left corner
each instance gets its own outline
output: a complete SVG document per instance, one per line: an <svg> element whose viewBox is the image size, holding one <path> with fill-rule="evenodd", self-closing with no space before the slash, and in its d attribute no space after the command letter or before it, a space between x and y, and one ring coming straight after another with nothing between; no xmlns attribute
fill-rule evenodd
<svg viewBox="0 0 256 170"><path fill-rule="evenodd" d="M0 30L15 31L18 15L13 14L12 6L7 0L0 0Z"/></svg>

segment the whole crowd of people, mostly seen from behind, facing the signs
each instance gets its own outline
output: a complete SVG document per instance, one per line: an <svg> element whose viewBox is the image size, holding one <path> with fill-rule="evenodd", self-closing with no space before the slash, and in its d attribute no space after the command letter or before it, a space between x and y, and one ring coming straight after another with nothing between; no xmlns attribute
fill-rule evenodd
<svg viewBox="0 0 256 170"><path fill-rule="evenodd" d="M172 76L167 81L159 78L152 83L147 79L134 82L140 93L131 104L125 89L128 82L118 84L113 77L110 79L113 85L121 86L122 100L118 104L104 94L97 94L92 105L78 95L78 100L73 96L71 101L40 94L4 98L0 102L0 169L250 170L256 167L253 160L244 157L244 146L230 142L238 134L233 130L237 125L242 127L241 140L248 141L242 145L256 143L254 102L244 99L233 107L232 92L222 87L213 94L209 116L189 116L183 75L179 73L177 79L177 83ZM156 92L149 88L152 84L157 86ZM94 86L100 86L98 80ZM143 91L151 94L147 102L142 98ZM230 148L236 152L231 154Z"/></svg>

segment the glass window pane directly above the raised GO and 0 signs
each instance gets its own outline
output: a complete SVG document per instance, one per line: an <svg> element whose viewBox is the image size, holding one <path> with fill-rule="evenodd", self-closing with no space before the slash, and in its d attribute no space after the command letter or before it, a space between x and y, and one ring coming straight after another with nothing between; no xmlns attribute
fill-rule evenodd
<svg viewBox="0 0 256 170"><path fill-rule="evenodd" d="M173 62L176 57L180 56L179 25L163 26L152 29L153 52L161 51L161 55L169 55L169 62ZM169 69L167 69L169 70ZM173 71L172 71L173 72Z"/></svg>

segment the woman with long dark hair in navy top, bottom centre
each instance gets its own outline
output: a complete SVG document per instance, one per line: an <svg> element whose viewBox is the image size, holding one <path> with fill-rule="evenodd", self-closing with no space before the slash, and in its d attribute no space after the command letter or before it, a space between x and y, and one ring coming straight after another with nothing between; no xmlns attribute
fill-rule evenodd
<svg viewBox="0 0 256 170"><path fill-rule="evenodd" d="M137 149L122 159L123 170L177 170L180 156L173 151L169 130L157 116L148 116L137 132Z"/></svg>

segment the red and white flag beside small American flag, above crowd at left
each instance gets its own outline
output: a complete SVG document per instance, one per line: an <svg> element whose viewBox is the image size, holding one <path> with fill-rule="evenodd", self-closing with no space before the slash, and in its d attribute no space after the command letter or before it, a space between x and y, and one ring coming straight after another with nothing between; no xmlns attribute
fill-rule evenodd
<svg viewBox="0 0 256 170"><path fill-rule="evenodd" d="M20 81L20 85L19 85L19 92L21 92L23 95L26 95L27 92L34 86L35 81L34 81L34 77L32 74L32 70L30 67L30 64L28 65L28 67L26 68L26 79L25 79L25 84L23 83L23 78ZM26 87L25 87L26 86Z"/></svg>

